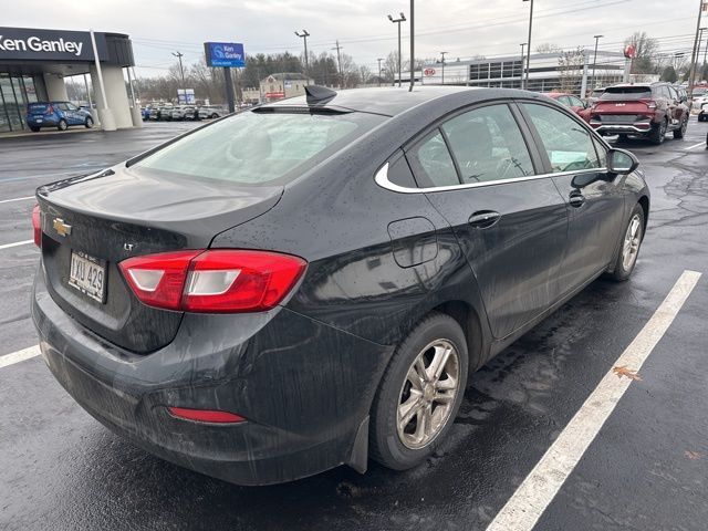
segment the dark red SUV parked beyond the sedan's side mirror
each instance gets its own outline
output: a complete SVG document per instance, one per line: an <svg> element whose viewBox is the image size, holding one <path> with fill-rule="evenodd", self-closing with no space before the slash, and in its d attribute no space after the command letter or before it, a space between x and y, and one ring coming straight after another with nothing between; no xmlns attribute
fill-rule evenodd
<svg viewBox="0 0 708 531"><path fill-rule="evenodd" d="M620 84L607 87L592 107L590 125L601 135L628 135L662 144L666 133L684 138L689 110L668 83Z"/></svg>

